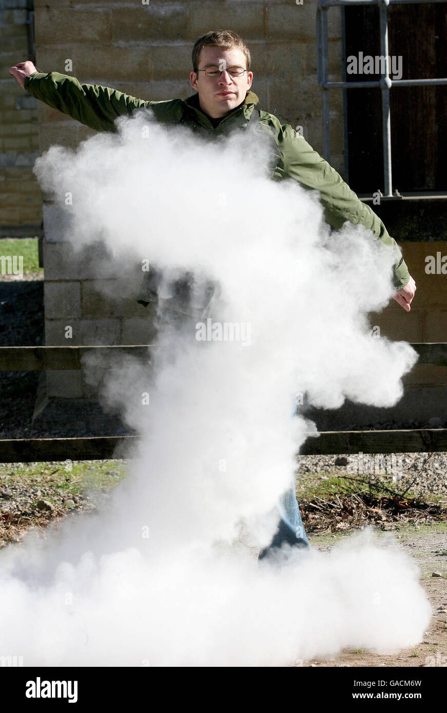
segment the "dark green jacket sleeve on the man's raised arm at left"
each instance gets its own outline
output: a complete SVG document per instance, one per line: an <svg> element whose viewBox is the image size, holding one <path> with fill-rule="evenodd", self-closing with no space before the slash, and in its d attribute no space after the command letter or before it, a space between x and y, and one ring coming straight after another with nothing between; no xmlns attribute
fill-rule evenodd
<svg viewBox="0 0 447 713"><path fill-rule="evenodd" d="M76 77L50 72L34 72L25 78L24 88L37 99L96 131L115 132L115 119L135 109L164 103L144 101L98 84L81 84Z"/></svg>

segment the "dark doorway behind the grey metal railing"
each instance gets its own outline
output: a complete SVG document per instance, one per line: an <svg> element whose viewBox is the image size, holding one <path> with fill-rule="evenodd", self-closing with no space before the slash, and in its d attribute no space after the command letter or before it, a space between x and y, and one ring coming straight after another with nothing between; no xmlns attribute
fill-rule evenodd
<svg viewBox="0 0 447 713"><path fill-rule="evenodd" d="M378 6L345 6L344 13L346 58L380 56ZM396 78L447 77L447 3L390 5L388 17L389 55L401 56ZM380 78L346 74L346 81ZM391 88L390 109L393 189L447 190L447 86ZM349 185L360 194L383 191L380 89L347 90L346 121Z"/></svg>

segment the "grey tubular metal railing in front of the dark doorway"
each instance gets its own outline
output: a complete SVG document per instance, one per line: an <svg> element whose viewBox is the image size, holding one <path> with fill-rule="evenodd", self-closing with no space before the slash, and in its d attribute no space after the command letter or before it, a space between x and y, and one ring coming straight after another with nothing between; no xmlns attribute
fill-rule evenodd
<svg viewBox="0 0 447 713"><path fill-rule="evenodd" d="M391 79L389 76L389 52L388 52L388 14L389 5L404 4L433 4L446 3L447 0L320 0L317 6L317 58L318 58L318 82L323 90L323 155L330 161L330 140L329 140L329 89L361 89L379 87L382 98L382 143L384 153L384 195L381 198L401 198L395 191L393 194L393 183L391 173L391 116L389 108L389 91L393 87L409 86L437 86L447 84L447 78L438 79ZM374 81L359 82L330 82L329 81L329 57L328 57L328 32L327 32L327 11L337 6L354 5L379 5L380 20L380 50L384 57L384 63L380 67L382 77ZM345 54L345 52L344 52ZM344 60L346 58L344 57ZM347 151L346 117L344 131L344 150ZM436 192L424 192L424 196L436 196L436 198L447 198L447 194Z"/></svg>

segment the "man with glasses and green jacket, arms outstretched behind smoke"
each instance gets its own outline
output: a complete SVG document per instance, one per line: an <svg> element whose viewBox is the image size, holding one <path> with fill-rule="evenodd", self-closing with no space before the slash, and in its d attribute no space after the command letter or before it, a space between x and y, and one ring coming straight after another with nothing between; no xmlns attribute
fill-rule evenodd
<svg viewBox="0 0 447 713"><path fill-rule="evenodd" d="M301 135L290 125L282 125L273 114L258 113L255 108L258 98L250 91L253 80L250 65L250 50L240 36L232 31L216 30L200 37L192 49L190 82L197 94L185 101L144 101L108 87L81 84L76 78L57 72L38 72L30 61L16 64L9 72L36 98L98 131L116 131L115 119L130 116L139 108L150 108L161 123L182 123L210 138L257 124L272 140L273 180L294 178L305 188L319 190L324 217L334 229L340 228L346 220L361 223L373 232L376 240L396 251L394 299L409 312L416 284L396 242L379 217L357 198ZM140 302L148 304L151 299L148 294ZM262 550L261 558L284 543L309 546L294 486L284 494L278 509L281 520L277 533L269 548Z"/></svg>

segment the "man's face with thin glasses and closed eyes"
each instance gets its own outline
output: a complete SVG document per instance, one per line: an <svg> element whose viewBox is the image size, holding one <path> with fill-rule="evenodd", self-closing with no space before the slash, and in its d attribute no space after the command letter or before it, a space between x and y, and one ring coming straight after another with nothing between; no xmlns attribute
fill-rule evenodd
<svg viewBox="0 0 447 713"><path fill-rule="evenodd" d="M252 86L253 73L244 72L231 77L228 71L247 67L245 54L236 48L203 47L199 55L197 69L214 68L217 76L210 77L203 71L190 73L191 86L199 93L202 111L212 118L225 116L245 99ZM224 71L225 70L225 71Z"/></svg>

